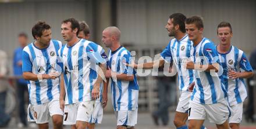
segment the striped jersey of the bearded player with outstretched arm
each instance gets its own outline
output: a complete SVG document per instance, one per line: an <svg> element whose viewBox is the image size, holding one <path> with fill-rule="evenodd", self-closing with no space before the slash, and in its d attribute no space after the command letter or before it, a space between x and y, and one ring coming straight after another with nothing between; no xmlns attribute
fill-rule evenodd
<svg viewBox="0 0 256 129"><path fill-rule="evenodd" d="M189 37L185 35L182 39L170 40L168 46L161 53L163 60L170 62L173 61L177 68L179 89L182 91L187 90L189 84L194 81L193 70L183 67L187 59L190 58L190 51L193 43Z"/></svg>

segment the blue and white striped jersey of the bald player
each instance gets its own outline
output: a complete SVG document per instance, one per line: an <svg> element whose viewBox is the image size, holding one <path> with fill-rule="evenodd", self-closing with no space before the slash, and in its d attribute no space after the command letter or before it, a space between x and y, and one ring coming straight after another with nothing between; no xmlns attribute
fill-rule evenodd
<svg viewBox="0 0 256 129"><path fill-rule="evenodd" d="M125 47L120 46L118 50L109 51L108 67L113 72L134 75L134 80L125 81L111 78L112 105L117 110L134 110L138 108L138 82L136 71L126 67L125 63L131 64L131 55Z"/></svg>

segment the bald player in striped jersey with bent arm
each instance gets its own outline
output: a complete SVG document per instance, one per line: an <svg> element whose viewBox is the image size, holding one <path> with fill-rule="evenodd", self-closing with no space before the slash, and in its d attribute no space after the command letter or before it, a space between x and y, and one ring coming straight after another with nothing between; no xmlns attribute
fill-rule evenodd
<svg viewBox="0 0 256 129"><path fill-rule="evenodd" d="M108 70L105 77L111 78L112 105L117 119L117 128L134 128L137 124L138 83L130 64L131 55L120 45L120 30L107 27L102 32L102 42L109 47Z"/></svg>

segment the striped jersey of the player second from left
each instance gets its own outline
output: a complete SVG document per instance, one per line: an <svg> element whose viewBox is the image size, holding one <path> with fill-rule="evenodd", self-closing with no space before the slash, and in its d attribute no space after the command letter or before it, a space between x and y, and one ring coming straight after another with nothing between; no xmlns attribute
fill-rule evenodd
<svg viewBox="0 0 256 129"><path fill-rule="evenodd" d="M59 50L63 61L65 104L91 100L98 64L105 63L99 50L102 50L101 46L85 39Z"/></svg>

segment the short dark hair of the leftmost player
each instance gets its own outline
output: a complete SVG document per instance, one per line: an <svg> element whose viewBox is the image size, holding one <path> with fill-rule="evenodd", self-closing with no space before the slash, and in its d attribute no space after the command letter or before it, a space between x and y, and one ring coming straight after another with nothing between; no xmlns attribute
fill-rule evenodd
<svg viewBox="0 0 256 129"><path fill-rule="evenodd" d="M42 32L44 30L49 30L51 29L51 26L48 25L47 23L45 23L45 21L38 21L37 24L34 25L34 27L32 28L32 35L35 39L35 36L42 36Z"/></svg>

